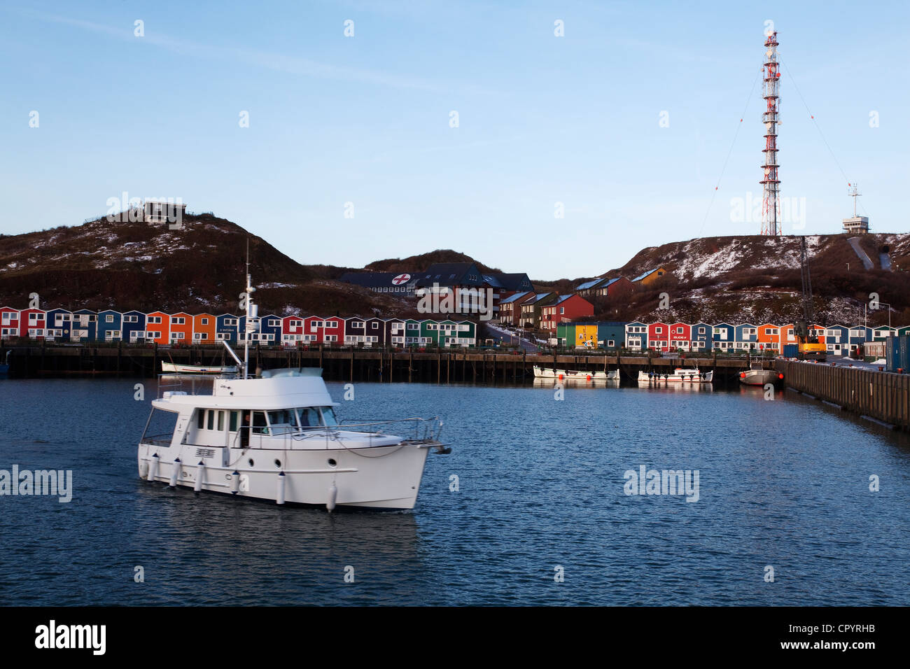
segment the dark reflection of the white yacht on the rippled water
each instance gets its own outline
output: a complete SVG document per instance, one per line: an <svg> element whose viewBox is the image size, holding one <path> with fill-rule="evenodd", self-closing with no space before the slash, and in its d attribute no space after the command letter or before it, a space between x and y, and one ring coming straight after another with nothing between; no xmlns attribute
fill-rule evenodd
<svg viewBox="0 0 910 669"><path fill-rule="evenodd" d="M136 481L136 520L136 560L192 603L307 603L317 591L369 603L391 596L402 574L428 572L412 512L329 513ZM349 572L375 590L345 591ZM395 601L420 603L428 588Z"/></svg>

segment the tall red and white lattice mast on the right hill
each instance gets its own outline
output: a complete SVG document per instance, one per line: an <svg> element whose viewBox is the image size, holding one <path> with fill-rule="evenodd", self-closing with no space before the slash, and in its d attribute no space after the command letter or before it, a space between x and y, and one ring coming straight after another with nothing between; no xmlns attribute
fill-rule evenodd
<svg viewBox="0 0 910 669"><path fill-rule="evenodd" d="M778 200L781 180L777 178L777 124L781 71L777 62L777 33L767 35L764 41L763 98L766 103L762 120L767 133L764 136L764 170L759 181L763 188L762 234L781 234L781 205Z"/></svg>

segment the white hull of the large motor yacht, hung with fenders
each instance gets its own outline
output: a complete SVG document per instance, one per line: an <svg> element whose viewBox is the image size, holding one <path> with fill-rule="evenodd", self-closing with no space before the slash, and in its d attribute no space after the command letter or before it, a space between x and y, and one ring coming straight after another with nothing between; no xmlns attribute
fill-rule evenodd
<svg viewBox="0 0 910 669"><path fill-rule="evenodd" d="M172 453L170 447L143 443L138 470L147 481L269 502L413 509L427 453L438 445L297 451L184 446Z"/></svg>

